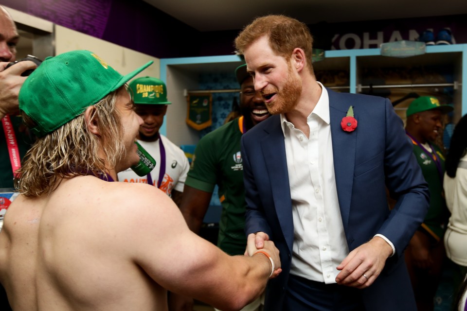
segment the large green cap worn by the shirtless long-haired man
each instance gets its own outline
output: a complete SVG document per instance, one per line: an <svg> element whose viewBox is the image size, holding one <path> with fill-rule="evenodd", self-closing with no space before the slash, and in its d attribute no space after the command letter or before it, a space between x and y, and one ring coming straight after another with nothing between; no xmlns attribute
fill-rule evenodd
<svg viewBox="0 0 467 311"><path fill-rule="evenodd" d="M36 122L31 130L42 137L82 114L152 63L123 76L90 51L47 57L21 87L19 109Z"/></svg>

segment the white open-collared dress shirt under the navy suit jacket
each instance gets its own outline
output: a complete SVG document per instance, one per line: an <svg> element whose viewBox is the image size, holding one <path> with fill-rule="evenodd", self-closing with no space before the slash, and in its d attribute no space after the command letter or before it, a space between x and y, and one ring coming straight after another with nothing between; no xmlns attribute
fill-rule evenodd
<svg viewBox="0 0 467 311"><path fill-rule="evenodd" d="M319 84L320 100L307 118L309 138L284 115L281 124L294 226L290 273L328 284L336 282L336 267L349 250L334 175L329 97Z"/></svg>

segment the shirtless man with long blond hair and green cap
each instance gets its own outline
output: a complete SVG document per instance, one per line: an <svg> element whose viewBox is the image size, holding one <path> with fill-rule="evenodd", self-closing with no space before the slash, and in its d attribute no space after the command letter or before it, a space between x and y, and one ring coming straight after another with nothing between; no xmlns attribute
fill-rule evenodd
<svg viewBox="0 0 467 311"><path fill-rule="evenodd" d="M167 290L238 310L280 273L272 242L255 255L251 235L251 256L230 257L192 233L162 191L109 182L139 161L143 121L124 84L149 65L122 76L92 52L67 52L21 88L38 139L0 232L0 282L13 310L163 311Z"/></svg>

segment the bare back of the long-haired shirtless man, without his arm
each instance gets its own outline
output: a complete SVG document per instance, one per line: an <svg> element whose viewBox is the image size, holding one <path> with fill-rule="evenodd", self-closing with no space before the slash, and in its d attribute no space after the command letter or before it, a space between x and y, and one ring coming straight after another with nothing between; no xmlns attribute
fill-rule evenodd
<svg viewBox="0 0 467 311"><path fill-rule="evenodd" d="M166 291L119 241L132 212L126 186L75 177L49 196L13 202L0 233L0 280L14 310L165 310Z"/></svg>

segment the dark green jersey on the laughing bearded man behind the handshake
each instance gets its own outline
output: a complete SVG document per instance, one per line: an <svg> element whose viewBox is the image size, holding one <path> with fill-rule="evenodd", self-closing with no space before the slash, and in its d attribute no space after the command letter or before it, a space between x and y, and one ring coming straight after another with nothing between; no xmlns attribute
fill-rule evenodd
<svg viewBox="0 0 467 311"><path fill-rule="evenodd" d="M222 213L217 246L230 255L242 255L247 244L242 121L243 117L230 121L199 140L185 181L185 185L207 192L219 187Z"/></svg>

